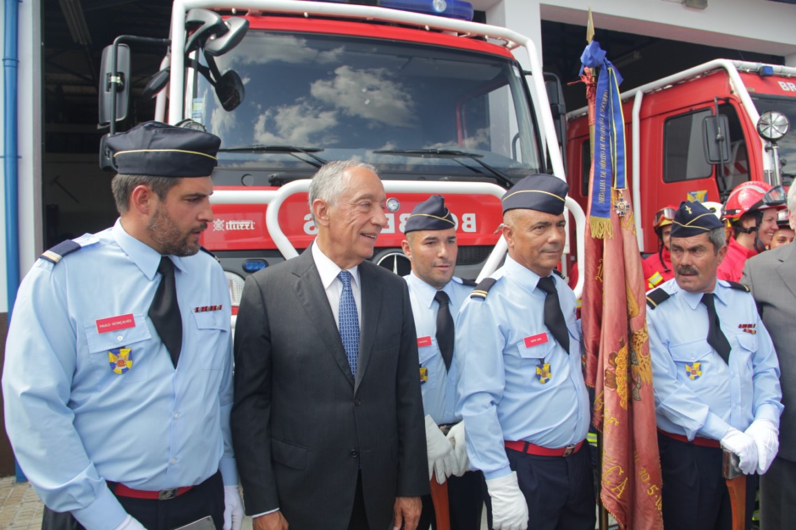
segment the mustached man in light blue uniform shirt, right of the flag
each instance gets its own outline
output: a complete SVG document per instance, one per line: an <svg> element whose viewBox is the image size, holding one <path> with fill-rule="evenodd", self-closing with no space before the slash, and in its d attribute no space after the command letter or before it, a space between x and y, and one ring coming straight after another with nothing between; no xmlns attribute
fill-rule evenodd
<svg viewBox="0 0 796 530"><path fill-rule="evenodd" d="M755 473L765 473L778 451L774 346L749 289L716 280L727 245L712 211L681 203L670 249L673 280L647 293L664 526L731 528L724 448L747 475L750 528Z"/></svg>

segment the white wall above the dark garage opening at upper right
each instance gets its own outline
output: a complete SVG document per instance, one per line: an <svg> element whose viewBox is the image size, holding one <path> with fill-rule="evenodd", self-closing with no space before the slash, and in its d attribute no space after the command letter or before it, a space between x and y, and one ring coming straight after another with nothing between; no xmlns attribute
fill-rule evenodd
<svg viewBox="0 0 796 530"><path fill-rule="evenodd" d="M541 20L785 56L796 66L796 5L769 0L707 0L704 10L679 0L470 0L487 22L541 42ZM585 42L584 42L585 44ZM544 50L542 51L544 52Z"/></svg>

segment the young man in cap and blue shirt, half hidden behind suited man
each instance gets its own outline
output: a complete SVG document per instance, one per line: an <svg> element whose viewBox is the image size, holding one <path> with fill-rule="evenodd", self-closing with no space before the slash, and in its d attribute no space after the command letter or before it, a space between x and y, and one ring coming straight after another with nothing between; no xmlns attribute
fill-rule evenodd
<svg viewBox="0 0 796 530"><path fill-rule="evenodd" d="M453 362L458 309L475 283L454 277L458 246L456 222L442 195L419 203L407 219L404 253L412 261L406 278L417 329L420 389L426 415L428 475L447 489L451 528L481 528L482 482L480 471L470 471L462 416L455 412L456 363ZM443 507L444 509L444 507ZM423 497L418 528L436 528L437 506Z"/></svg>

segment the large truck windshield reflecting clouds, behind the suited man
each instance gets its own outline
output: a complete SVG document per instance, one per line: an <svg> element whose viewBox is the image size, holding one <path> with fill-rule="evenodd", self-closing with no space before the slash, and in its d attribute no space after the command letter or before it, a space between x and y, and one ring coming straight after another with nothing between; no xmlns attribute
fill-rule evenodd
<svg viewBox="0 0 796 530"><path fill-rule="evenodd" d="M220 72L234 69L243 79L238 108L225 111L196 71L188 86L190 117L221 137L220 168L304 178L314 171L306 151L367 161L385 178L480 178L505 186L544 171L525 81L504 56L251 30L216 61Z"/></svg>

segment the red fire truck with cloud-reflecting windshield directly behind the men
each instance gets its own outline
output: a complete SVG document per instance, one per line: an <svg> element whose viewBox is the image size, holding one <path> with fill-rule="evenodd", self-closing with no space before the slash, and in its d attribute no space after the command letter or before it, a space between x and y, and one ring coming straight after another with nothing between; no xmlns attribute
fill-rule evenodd
<svg viewBox="0 0 796 530"><path fill-rule="evenodd" d="M458 218L457 274L477 277L505 250L494 251L505 188L530 173L564 178L560 84L529 38L470 21L469 3L232 3L174 2L170 53L146 92L155 119L221 138L203 244L233 300L249 273L312 242L307 179L325 161L379 169L389 214L373 260L400 274L404 221L429 195L446 195ZM127 98L124 46L152 41L119 37L107 51L100 122L111 132Z"/></svg>

